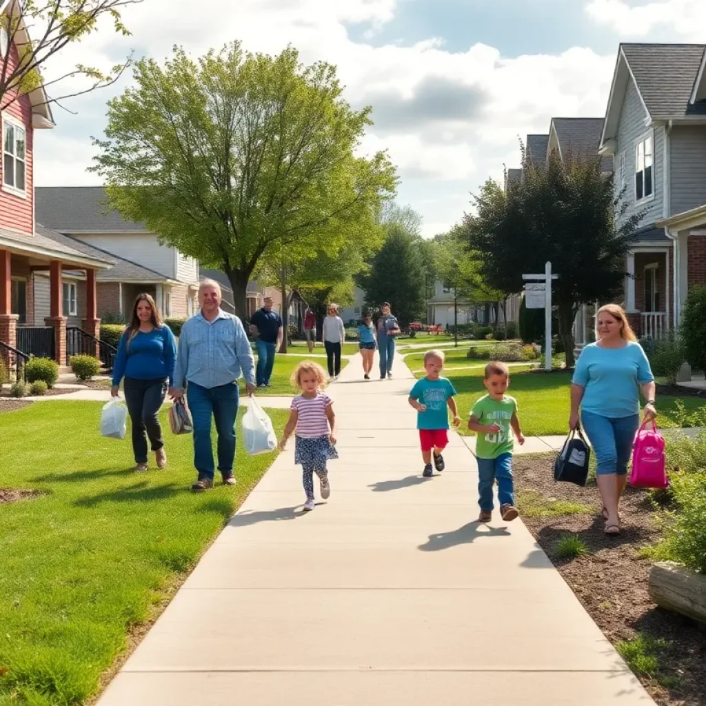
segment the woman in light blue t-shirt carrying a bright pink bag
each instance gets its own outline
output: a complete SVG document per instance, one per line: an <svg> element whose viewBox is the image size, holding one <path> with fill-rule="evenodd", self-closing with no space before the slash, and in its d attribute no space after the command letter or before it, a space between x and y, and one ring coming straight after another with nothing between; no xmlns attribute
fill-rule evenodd
<svg viewBox="0 0 706 706"><path fill-rule="evenodd" d="M628 461L640 426L640 388L645 419L654 409L654 376L625 311L606 304L597 313L599 340L581 352L571 384L569 426L581 421L596 455L596 480L606 534L620 534L618 505L628 481Z"/></svg>

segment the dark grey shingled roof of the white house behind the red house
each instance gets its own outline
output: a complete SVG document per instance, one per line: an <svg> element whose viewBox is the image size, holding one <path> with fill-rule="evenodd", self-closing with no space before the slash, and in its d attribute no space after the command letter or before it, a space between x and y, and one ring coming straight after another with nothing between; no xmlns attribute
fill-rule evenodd
<svg viewBox="0 0 706 706"><path fill-rule="evenodd" d="M147 233L143 223L109 210L103 186L37 186L37 220L64 233Z"/></svg>

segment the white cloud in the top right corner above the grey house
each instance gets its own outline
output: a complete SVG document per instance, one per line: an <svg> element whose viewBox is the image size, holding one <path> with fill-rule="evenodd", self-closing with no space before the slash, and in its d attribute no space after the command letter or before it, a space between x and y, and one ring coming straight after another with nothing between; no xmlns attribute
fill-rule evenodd
<svg viewBox="0 0 706 706"><path fill-rule="evenodd" d="M703 42L704 0L662 0L630 5L625 0L590 0L587 13L624 37L645 37L659 29L681 35L682 41Z"/></svg>

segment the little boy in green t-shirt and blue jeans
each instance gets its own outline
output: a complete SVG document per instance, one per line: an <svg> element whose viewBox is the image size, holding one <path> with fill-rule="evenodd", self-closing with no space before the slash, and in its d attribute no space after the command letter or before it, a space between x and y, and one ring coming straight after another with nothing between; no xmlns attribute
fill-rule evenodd
<svg viewBox="0 0 706 706"><path fill-rule="evenodd" d="M477 432L476 458L478 461L478 504L480 522L490 522L493 517L493 481L498 481L500 513L505 522L514 520L519 513L515 507L513 484L513 437L525 443L517 418L517 402L505 395L510 385L510 370L504 363L489 363L483 384L488 394L473 406L468 428Z"/></svg>

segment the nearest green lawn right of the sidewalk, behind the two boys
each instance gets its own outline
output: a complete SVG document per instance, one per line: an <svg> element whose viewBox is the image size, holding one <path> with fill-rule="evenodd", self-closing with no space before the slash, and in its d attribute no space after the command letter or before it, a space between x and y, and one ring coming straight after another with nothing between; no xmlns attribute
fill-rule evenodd
<svg viewBox="0 0 706 706"><path fill-rule="evenodd" d="M409 365L409 357L407 357ZM414 373L417 378L424 373ZM450 366L443 373L453 382L458 392L457 404L462 419L467 419L474 402L485 394L483 386L483 368L471 370L455 370ZM568 431L569 418L569 384L570 373L535 373L528 369L517 367L510 369L509 395L517 399L517 409L520 414L522 431L525 436L544 436L547 434L563 434ZM695 412L703 407L702 400L697 397L668 397L659 395L657 407L659 426L675 426L676 402L681 402L687 412ZM473 434L462 425L460 433L467 436Z"/></svg>

